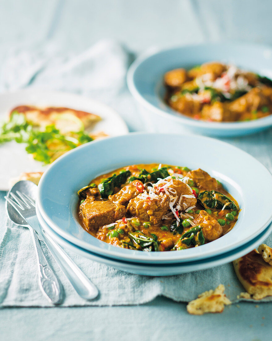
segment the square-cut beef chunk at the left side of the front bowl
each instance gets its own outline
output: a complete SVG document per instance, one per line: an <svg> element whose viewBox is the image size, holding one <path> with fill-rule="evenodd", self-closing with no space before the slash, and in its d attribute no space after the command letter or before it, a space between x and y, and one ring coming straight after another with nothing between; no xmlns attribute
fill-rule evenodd
<svg viewBox="0 0 272 341"><path fill-rule="evenodd" d="M81 205L82 213L86 227L96 232L99 226L111 224L124 217L126 210L122 205L115 205L111 201L94 201L87 198Z"/></svg>

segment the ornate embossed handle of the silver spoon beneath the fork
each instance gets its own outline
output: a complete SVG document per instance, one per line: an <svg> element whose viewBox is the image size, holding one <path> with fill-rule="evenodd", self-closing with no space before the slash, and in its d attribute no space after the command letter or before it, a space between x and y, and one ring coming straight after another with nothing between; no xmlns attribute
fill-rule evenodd
<svg viewBox="0 0 272 341"><path fill-rule="evenodd" d="M37 232L30 226L29 229L34 241L34 248L37 255L40 289L51 303L54 305L60 304L63 298L62 285L47 262L43 249L41 248Z"/></svg>

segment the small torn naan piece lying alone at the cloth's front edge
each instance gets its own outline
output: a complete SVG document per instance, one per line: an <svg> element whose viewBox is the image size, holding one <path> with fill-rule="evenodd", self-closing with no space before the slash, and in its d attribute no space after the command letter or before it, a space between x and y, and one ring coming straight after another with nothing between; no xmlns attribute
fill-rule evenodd
<svg viewBox="0 0 272 341"><path fill-rule="evenodd" d="M221 313L225 305L231 304L231 301L224 294L223 284L218 285L215 290L205 291L197 299L187 305L187 311L193 315L203 315L204 313Z"/></svg>

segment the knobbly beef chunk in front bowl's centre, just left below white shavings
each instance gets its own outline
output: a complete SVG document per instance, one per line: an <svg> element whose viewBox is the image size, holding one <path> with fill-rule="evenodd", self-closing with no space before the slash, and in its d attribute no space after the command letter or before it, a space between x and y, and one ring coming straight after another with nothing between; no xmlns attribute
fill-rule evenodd
<svg viewBox="0 0 272 341"><path fill-rule="evenodd" d="M169 196L166 194L156 199L139 194L130 200L127 210L132 216L139 218L141 221L158 224L170 210L169 202Z"/></svg>

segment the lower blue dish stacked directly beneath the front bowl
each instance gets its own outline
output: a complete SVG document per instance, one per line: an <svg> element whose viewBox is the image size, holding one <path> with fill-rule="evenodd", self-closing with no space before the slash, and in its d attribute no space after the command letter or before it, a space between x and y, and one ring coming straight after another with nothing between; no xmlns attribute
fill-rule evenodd
<svg viewBox="0 0 272 341"><path fill-rule="evenodd" d="M246 243L240 248L237 248L231 252L224 253L220 256L215 256L211 258L206 258L205 260L199 261L191 261L191 262L182 262L182 263L174 263L174 264L147 264L147 263L131 263L125 261L118 261L112 258L103 257L101 255L92 253L90 251L84 250L73 243L70 243L68 240L62 238L58 235L41 217L41 214L38 209L36 209L37 216L39 222L43 229L48 233L57 243L59 243L62 247L70 250L74 253L77 253L80 256L91 259L92 261L96 261L99 263L106 264L108 266L112 266L118 270L136 273L137 275L145 275L145 276L172 276L172 275L180 275L182 273L198 271L203 269L212 268L218 265L222 265L225 263L229 263L234 261L235 259L247 254L254 248L256 248L259 244L261 244L271 233L272 224L265 229L260 235L254 238L251 242Z"/></svg>

